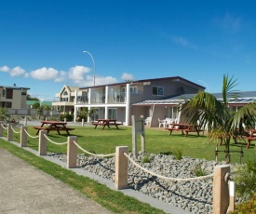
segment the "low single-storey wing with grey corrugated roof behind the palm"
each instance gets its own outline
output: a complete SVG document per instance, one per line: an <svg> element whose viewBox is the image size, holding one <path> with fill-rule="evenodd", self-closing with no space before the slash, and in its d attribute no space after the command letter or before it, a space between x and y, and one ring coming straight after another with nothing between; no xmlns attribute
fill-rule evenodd
<svg viewBox="0 0 256 214"><path fill-rule="evenodd" d="M217 100L222 100L222 93L212 93L212 95L214 95ZM158 127L158 118L177 118L178 122L182 122L182 114L178 112L178 107L184 100L192 99L194 96L195 94L182 94L162 100L143 100L134 103L133 108L140 109L147 106L153 109L154 114L152 114L151 127ZM228 107L230 111L236 112L239 108L254 100L256 100L256 91L240 91L236 99L228 100Z"/></svg>

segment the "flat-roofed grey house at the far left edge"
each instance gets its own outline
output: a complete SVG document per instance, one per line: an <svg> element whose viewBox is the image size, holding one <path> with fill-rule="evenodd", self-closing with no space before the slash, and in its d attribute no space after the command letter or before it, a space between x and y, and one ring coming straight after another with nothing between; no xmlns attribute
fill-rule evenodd
<svg viewBox="0 0 256 214"><path fill-rule="evenodd" d="M0 107L8 109L25 109L28 87L0 86Z"/></svg>

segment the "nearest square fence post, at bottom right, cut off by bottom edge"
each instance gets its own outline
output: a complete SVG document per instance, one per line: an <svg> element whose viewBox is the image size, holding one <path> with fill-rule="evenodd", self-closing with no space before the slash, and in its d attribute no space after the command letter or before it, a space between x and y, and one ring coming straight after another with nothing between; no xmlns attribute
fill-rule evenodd
<svg viewBox="0 0 256 214"><path fill-rule="evenodd" d="M213 170L213 214L225 214L229 207L228 181L225 176L230 172L228 165L215 166Z"/></svg>

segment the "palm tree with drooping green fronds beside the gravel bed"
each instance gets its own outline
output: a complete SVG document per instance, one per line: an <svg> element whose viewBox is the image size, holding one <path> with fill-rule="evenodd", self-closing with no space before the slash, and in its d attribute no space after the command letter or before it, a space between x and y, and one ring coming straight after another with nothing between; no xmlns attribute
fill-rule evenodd
<svg viewBox="0 0 256 214"><path fill-rule="evenodd" d="M223 75L222 100L217 100L212 94L199 91L191 100L186 100L180 109L184 121L207 128L209 140L222 140L225 146L226 163L230 162L230 142L232 139L244 139L245 128L255 127L256 103L240 108L237 112L229 110L228 101L238 98L236 80Z"/></svg>

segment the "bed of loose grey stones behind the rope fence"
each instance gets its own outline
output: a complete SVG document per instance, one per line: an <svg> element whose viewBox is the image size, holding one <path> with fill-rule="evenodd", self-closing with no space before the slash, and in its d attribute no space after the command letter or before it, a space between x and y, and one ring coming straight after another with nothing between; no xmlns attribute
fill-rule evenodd
<svg viewBox="0 0 256 214"><path fill-rule="evenodd" d="M66 162L66 154L48 154ZM132 154L129 154L132 156ZM150 160L144 163L145 156ZM133 158L134 159L134 158ZM141 154L135 158L136 163L158 175L168 178L195 178L195 168L201 168L207 175L212 174L213 167L223 163L182 157L176 160L173 155ZM107 180L115 181L115 157L105 158L77 155L77 165ZM231 166L231 172L234 166ZM232 174L232 173L231 173ZM212 213L213 178L195 181L170 181L159 179L138 167L128 164L128 187L143 194L150 195L175 207L194 213ZM236 199L240 201L239 198Z"/></svg>

